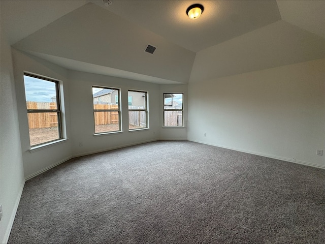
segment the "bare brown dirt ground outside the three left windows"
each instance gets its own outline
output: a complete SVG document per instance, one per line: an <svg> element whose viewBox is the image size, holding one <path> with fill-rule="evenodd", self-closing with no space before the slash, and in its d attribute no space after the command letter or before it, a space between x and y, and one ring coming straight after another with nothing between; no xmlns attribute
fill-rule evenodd
<svg viewBox="0 0 325 244"><path fill-rule="evenodd" d="M142 129L142 127L129 125L128 129ZM118 124L96 126L96 133L118 131ZM59 139L57 127L29 129L30 145L38 145L48 141Z"/></svg>

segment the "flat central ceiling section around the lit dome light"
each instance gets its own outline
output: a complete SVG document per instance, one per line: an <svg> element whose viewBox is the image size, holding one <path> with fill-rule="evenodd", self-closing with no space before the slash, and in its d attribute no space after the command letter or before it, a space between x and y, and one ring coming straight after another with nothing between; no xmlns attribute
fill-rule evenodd
<svg viewBox="0 0 325 244"><path fill-rule="evenodd" d="M204 6L204 12L197 20L190 20L186 9L197 2ZM193 52L281 19L276 1L119 0L106 9Z"/></svg>

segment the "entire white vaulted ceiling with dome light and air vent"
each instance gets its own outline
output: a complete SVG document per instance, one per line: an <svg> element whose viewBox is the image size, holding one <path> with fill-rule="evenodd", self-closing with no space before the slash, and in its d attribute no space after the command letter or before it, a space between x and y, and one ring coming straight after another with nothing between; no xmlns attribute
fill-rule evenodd
<svg viewBox="0 0 325 244"><path fill-rule="evenodd" d="M194 3L205 9L190 20ZM324 57L324 12L325 1L1 0L1 31L68 69L187 83Z"/></svg>

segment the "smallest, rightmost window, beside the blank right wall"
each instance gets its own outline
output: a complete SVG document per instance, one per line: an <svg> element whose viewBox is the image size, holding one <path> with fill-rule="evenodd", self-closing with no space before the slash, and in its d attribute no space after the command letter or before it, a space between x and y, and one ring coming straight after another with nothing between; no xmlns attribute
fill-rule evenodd
<svg viewBox="0 0 325 244"><path fill-rule="evenodd" d="M164 93L164 127L183 126L182 93Z"/></svg>

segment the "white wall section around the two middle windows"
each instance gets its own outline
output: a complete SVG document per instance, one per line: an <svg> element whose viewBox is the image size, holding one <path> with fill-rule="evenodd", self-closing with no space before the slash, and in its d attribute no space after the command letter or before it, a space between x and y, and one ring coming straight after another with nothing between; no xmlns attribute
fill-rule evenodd
<svg viewBox="0 0 325 244"><path fill-rule="evenodd" d="M122 132L94 135L91 87L121 89ZM128 131L128 89L148 92L149 129ZM69 72L69 99L72 125L72 155L83 155L159 139L159 85L136 80ZM79 146L82 142L82 146Z"/></svg>

